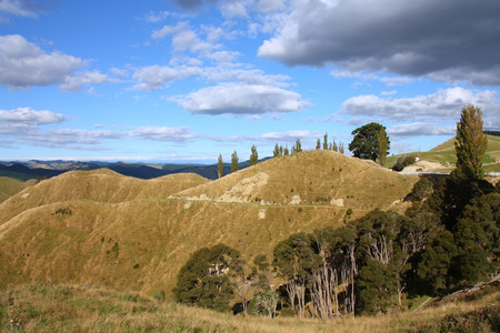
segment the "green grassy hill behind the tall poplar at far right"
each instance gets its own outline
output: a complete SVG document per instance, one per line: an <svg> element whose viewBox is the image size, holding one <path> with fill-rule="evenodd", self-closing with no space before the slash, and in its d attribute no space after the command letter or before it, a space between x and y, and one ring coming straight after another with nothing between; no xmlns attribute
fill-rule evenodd
<svg viewBox="0 0 500 333"><path fill-rule="evenodd" d="M487 135L488 137L488 148L483 158L483 164L494 163L500 160L500 137ZM420 155L422 160L429 162L438 162L442 165L451 165L457 162L457 155L454 152L454 138L439 144L438 147L427 151L427 152L411 152L398 155L388 157L386 167L392 167L399 157L401 155ZM488 170L488 168L486 168Z"/></svg>

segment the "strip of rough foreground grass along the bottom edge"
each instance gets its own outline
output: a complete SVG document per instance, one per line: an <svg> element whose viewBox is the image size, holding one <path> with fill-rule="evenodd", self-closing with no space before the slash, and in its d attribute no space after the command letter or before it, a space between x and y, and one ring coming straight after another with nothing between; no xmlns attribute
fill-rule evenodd
<svg viewBox="0 0 500 333"><path fill-rule="evenodd" d="M500 290L418 312L339 317L242 317L136 293L33 283L0 291L0 332L499 332Z"/></svg>

